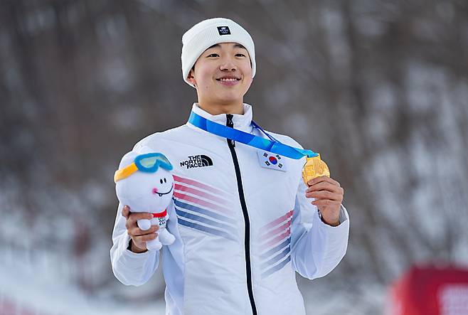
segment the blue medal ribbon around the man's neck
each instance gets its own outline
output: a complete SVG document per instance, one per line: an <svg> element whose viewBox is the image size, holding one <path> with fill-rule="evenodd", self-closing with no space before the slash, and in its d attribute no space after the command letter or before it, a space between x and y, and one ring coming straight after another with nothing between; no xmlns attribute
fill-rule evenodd
<svg viewBox="0 0 468 315"><path fill-rule="evenodd" d="M291 159L298 160L302 159L302 157L304 156L314 157L319 155L314 151L295 148L294 146L288 146L287 144L283 144L277 141L277 139L271 137L270 134L267 134L265 130L260 128L260 126L258 126L253 120L253 126L259 129L264 134L266 134L267 137L270 139L263 139L262 137L249 134L248 132L243 132L238 129L227 127L223 124L218 124L217 122L212 122L211 120L206 119L205 117L201 117L195 112L191 112L190 117L188 117L188 122L193 124L193 126L205 130L206 132L216 134L216 136L231 139L236 142L247 144L248 146L253 146L257 149L269 151L271 153L287 156Z"/></svg>

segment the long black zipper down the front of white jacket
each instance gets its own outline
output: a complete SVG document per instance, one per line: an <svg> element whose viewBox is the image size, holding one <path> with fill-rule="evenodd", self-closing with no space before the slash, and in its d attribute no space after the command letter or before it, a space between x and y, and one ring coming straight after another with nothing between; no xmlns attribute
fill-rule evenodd
<svg viewBox="0 0 468 315"><path fill-rule="evenodd" d="M226 126L233 128L233 115L226 114L227 121ZM252 314L257 315L257 307L255 306L255 300L253 299L253 290L252 290L252 267L250 266L250 220L249 214L247 212L247 204L245 203L244 189L242 186L242 178L240 178L240 168L238 156L235 154L235 142L233 139L227 139L228 146L231 156L233 156L235 177L238 181L238 191L240 198L240 205L242 206L242 213L244 215L244 224L245 224L245 234L244 234L244 249L245 249L245 272L247 273L247 291L249 293L250 306L252 306Z"/></svg>

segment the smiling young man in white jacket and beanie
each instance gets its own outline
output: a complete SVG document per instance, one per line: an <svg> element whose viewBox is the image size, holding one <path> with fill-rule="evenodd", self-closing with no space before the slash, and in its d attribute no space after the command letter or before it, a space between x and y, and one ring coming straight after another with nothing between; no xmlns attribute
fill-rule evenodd
<svg viewBox="0 0 468 315"><path fill-rule="evenodd" d="M174 165L167 228L176 241L161 249L166 314L305 314L295 272L324 277L344 257L349 218L343 188L326 176L306 186L305 158L213 133L244 132L300 147L263 132L243 103L256 70L244 28L212 18L193 26L182 42L182 73L198 102L186 124L134 146L149 146ZM146 249L157 227L144 231L136 223L149 216L124 205L117 210L111 260L124 284L144 284L159 264L159 252Z"/></svg>

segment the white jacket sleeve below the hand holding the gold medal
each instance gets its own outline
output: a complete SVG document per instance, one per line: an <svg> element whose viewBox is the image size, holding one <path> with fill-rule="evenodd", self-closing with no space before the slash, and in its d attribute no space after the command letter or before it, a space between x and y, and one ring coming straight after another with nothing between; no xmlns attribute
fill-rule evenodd
<svg viewBox="0 0 468 315"><path fill-rule="evenodd" d="M303 277L315 279L329 274L341 261L348 247L349 215L343 205L340 225L322 222L319 210L306 198L307 186L299 182L291 228L292 267Z"/></svg>

